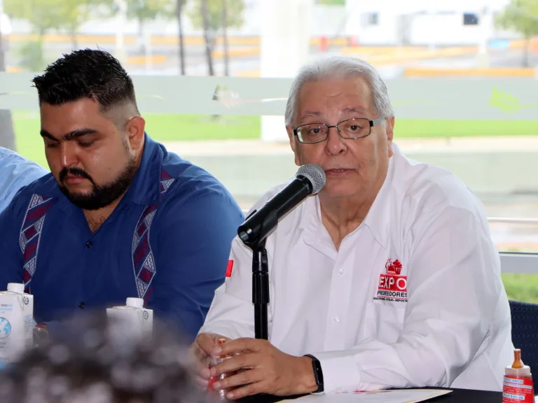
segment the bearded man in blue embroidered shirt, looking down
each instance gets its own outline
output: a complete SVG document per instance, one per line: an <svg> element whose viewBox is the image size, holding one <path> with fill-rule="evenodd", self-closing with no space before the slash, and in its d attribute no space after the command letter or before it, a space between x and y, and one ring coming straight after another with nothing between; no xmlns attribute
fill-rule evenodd
<svg viewBox="0 0 538 403"><path fill-rule="evenodd" d="M72 52L33 81L51 174L0 215L0 290L24 282L38 323L140 297L195 336L240 208L149 138L132 80L108 53Z"/></svg>

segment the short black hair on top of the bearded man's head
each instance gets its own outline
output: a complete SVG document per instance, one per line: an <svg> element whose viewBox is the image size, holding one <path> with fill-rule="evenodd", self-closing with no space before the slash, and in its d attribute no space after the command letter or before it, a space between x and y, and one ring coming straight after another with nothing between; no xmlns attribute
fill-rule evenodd
<svg viewBox="0 0 538 403"><path fill-rule="evenodd" d="M62 105L89 98L99 103L101 111L109 111L118 104L137 104L127 71L104 50L83 49L63 55L32 82L39 105Z"/></svg>

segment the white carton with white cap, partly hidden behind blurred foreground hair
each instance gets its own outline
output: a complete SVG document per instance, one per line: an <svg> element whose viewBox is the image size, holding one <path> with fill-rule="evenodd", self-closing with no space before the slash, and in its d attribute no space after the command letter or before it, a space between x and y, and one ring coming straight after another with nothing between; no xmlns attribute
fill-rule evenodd
<svg viewBox="0 0 538 403"><path fill-rule="evenodd" d="M128 334L130 337L142 339L153 334L153 310L144 308L144 299L127 298L124 306L114 306L106 309L106 316L112 330Z"/></svg>

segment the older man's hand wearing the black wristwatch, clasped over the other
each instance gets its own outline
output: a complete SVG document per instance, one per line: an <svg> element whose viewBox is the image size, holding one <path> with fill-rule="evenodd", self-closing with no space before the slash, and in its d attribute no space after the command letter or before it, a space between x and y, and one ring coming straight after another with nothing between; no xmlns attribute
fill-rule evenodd
<svg viewBox="0 0 538 403"><path fill-rule="evenodd" d="M270 395L299 395L317 390L312 359L282 353L266 340L236 339L216 346L212 356L232 355L212 367L211 375L238 374L216 381L214 389L230 390L228 399L268 393Z"/></svg>

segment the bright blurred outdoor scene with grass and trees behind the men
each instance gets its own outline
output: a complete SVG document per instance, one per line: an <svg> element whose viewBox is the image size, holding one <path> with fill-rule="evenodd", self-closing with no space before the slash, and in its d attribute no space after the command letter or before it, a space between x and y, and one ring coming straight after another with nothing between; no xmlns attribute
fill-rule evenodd
<svg viewBox="0 0 538 403"><path fill-rule="evenodd" d="M100 48L135 79L149 135L249 208L294 174L282 114L298 66L362 57L403 153L476 192L499 250L538 253L537 0L0 0L0 15L0 146L43 167L29 78ZM503 280L538 302L537 275Z"/></svg>

